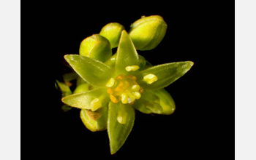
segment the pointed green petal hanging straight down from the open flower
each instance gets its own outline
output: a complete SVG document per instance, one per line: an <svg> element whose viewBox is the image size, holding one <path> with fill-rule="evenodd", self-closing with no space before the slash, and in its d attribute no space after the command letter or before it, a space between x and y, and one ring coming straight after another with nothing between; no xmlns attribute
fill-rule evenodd
<svg viewBox="0 0 256 160"><path fill-rule="evenodd" d="M125 124L120 124L117 121L118 110L124 109L127 113L127 120ZM118 151L129 133L132 131L132 127L135 121L135 110L131 105L124 105L123 103L110 102L108 108L108 137L110 140L110 153L114 154Z"/></svg>

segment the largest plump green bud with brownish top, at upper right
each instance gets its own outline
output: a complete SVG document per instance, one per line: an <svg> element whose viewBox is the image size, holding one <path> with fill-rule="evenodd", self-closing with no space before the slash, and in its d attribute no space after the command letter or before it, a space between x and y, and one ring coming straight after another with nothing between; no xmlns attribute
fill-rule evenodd
<svg viewBox="0 0 256 160"><path fill-rule="evenodd" d="M167 24L159 15L142 17L132 23L129 36L138 50L151 50L157 47L165 36Z"/></svg>

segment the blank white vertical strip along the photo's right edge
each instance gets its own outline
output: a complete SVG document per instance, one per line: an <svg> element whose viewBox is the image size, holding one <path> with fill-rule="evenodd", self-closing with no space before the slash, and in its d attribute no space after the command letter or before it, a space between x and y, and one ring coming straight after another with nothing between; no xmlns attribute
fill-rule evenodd
<svg viewBox="0 0 256 160"><path fill-rule="evenodd" d="M235 156L256 159L256 1L235 1Z"/></svg>

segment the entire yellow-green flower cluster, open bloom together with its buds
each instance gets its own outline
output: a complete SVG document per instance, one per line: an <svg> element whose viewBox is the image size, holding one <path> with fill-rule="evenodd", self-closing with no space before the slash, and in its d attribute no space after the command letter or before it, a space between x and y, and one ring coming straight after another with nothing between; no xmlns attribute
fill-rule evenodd
<svg viewBox="0 0 256 160"><path fill-rule="evenodd" d="M166 23L160 16L150 16L145 23L134 24L129 33L118 23L111 23L110 28L106 25L102 34L81 42L80 55L64 56L79 77L75 91L65 95L62 102L79 108L80 119L92 132L108 130L111 154L127 140L136 110L163 115L175 111L173 98L164 88L193 65L192 61L184 61L152 66L138 55L136 48L156 47L163 38L161 35L165 35ZM146 31L148 28L150 32ZM138 31L134 31L136 29ZM146 35L148 33L151 36ZM143 41L145 37L148 38ZM133 41L136 41L136 47ZM113 47L118 47L114 55Z"/></svg>

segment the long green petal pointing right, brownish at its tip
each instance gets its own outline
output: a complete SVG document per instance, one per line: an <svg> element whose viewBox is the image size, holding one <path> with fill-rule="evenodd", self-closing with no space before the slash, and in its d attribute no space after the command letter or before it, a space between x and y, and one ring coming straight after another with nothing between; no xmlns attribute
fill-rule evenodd
<svg viewBox="0 0 256 160"><path fill-rule="evenodd" d="M137 74L138 83L143 89L162 89L172 84L174 81L183 76L194 63L192 61L178 62L178 63L166 63L162 65L156 65L151 68L147 68L144 71L140 71ZM144 76L148 74L154 74L157 76L157 81L152 84L148 84L143 80Z"/></svg>

